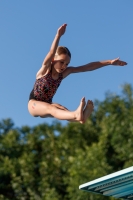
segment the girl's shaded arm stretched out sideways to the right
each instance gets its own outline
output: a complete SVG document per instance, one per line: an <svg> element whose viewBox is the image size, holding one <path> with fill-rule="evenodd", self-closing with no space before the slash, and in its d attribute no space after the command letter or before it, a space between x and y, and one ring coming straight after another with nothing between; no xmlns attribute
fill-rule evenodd
<svg viewBox="0 0 133 200"><path fill-rule="evenodd" d="M113 60L91 62L91 63L88 63L86 65L82 65L82 66L79 66L79 67L68 67L64 71L64 78L71 73L92 71L92 70L96 70L96 69L99 69L99 68L107 66L107 65L124 66L124 65L127 65L127 63L125 61L120 60L119 58L116 58L116 59L113 59Z"/></svg>

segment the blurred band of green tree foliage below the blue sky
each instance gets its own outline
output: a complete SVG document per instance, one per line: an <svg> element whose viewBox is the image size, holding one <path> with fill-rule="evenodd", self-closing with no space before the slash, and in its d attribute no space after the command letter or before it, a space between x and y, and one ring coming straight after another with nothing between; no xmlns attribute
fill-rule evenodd
<svg viewBox="0 0 133 200"><path fill-rule="evenodd" d="M133 165L133 89L95 101L86 124L0 122L1 200L104 200L79 185ZM107 198L106 198L107 199ZM108 197L108 199L112 199Z"/></svg>

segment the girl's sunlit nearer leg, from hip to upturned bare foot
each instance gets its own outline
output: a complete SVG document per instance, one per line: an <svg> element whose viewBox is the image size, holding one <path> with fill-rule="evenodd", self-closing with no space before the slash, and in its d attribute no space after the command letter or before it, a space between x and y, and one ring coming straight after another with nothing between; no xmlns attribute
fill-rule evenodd
<svg viewBox="0 0 133 200"><path fill-rule="evenodd" d="M51 115L60 120L75 120L81 121L83 119L83 108L85 99L82 98L79 107L75 111L61 110L52 104L30 100L28 103L28 110L34 117L47 117Z"/></svg>

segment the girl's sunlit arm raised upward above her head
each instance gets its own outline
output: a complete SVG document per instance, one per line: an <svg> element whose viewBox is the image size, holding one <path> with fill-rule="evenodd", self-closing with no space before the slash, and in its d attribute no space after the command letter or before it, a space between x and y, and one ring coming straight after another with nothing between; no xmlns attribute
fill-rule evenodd
<svg viewBox="0 0 133 200"><path fill-rule="evenodd" d="M40 70L36 74L36 79L41 78L51 69L51 62L52 62L52 60L55 56L55 52L56 52L56 49L58 47L60 37L65 33L66 26L67 26L67 24L63 24L57 30L57 34L55 35L55 38L54 38L53 43L51 45L50 51L46 55L46 57L45 57L45 59L42 63L42 67L40 68Z"/></svg>

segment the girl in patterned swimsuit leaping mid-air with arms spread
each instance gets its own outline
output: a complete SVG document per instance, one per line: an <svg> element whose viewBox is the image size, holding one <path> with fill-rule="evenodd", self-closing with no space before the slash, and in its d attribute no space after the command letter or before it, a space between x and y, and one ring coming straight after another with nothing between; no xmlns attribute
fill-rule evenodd
<svg viewBox="0 0 133 200"><path fill-rule="evenodd" d="M58 46L61 36L65 33L66 26L67 24L63 24L57 30L50 51L36 74L34 88L29 97L28 110L34 117L54 117L60 120L85 123L94 109L91 100L86 103L83 97L75 111L69 111L64 106L52 102L61 81L72 73L92 71L107 65L124 66L127 63L116 58L91 62L78 67L68 67L71 53L67 47Z"/></svg>

